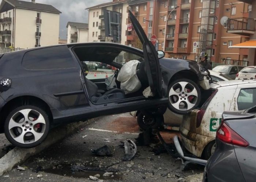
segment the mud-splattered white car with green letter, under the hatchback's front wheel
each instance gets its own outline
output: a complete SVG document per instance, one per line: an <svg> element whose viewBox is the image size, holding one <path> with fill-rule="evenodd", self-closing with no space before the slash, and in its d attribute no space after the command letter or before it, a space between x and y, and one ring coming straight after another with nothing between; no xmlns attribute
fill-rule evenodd
<svg viewBox="0 0 256 182"><path fill-rule="evenodd" d="M203 97L205 103L183 116L180 133L182 145L189 152L208 159L215 150L215 135L222 113L256 105L256 80L212 83L208 95Z"/></svg>

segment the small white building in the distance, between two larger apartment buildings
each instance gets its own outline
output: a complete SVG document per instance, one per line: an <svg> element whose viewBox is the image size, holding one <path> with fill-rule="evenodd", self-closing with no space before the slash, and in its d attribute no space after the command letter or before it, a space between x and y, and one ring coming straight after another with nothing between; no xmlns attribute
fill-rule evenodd
<svg viewBox="0 0 256 182"><path fill-rule="evenodd" d="M88 24L68 22L68 43L88 42Z"/></svg>

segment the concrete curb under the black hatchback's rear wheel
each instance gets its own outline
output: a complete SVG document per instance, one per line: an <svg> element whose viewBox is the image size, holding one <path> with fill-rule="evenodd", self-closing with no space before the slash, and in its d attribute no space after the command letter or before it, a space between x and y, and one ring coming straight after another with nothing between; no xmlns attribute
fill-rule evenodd
<svg viewBox="0 0 256 182"><path fill-rule="evenodd" d="M50 131L45 141L34 148L22 149L15 147L0 159L0 176L10 171L18 163L24 162L29 157L40 153L42 150L45 150L54 143L64 139L65 137L68 137L71 134L74 134L80 127L84 127L94 121L95 118L88 120L86 123L71 123L65 126L54 128Z"/></svg>

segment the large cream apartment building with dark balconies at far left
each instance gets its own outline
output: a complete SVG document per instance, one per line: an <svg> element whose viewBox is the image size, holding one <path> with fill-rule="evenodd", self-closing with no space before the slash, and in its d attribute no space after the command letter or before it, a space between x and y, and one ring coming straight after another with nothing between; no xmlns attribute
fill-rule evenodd
<svg viewBox="0 0 256 182"><path fill-rule="evenodd" d="M0 47L31 48L59 43L60 11L35 0L2 0Z"/></svg>

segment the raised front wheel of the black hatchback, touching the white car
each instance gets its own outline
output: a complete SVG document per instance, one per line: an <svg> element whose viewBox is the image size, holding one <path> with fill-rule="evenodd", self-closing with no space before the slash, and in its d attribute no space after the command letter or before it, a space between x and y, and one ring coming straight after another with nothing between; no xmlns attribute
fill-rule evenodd
<svg viewBox="0 0 256 182"><path fill-rule="evenodd" d="M177 79L168 87L168 108L176 114L187 114L196 108L201 100L201 91L189 79Z"/></svg>

